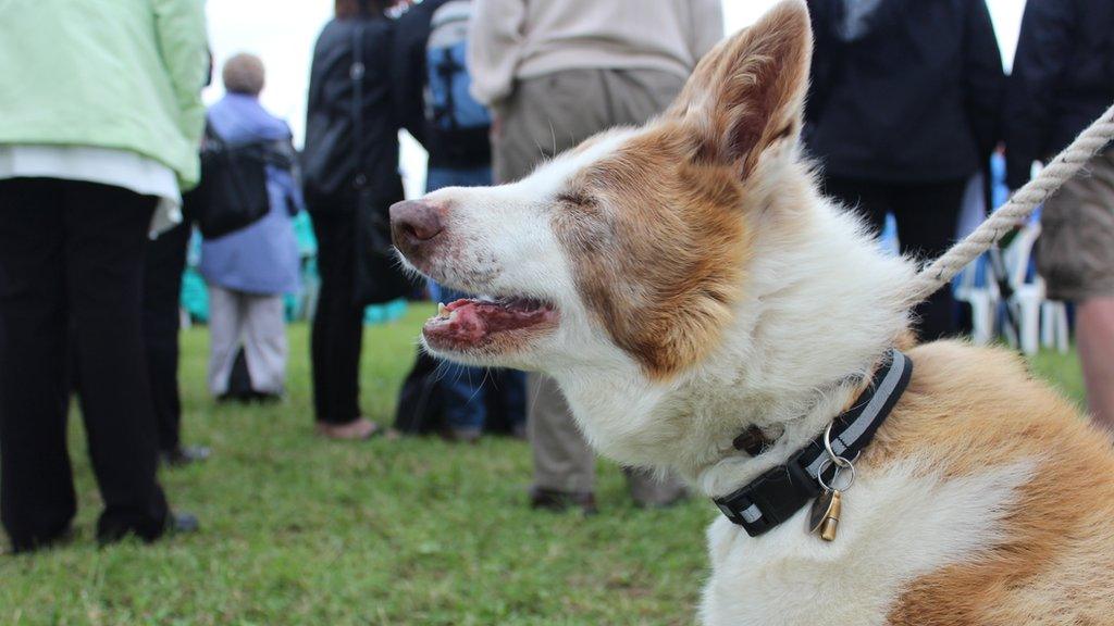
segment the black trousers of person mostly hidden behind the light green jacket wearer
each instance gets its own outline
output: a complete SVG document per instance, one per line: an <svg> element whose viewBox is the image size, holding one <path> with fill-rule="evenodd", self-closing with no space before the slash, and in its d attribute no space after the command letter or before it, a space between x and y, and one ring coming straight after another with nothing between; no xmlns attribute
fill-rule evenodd
<svg viewBox="0 0 1114 626"><path fill-rule="evenodd" d="M178 326L182 273L186 268L187 223L147 244L143 280L143 335L150 394L158 427L158 449L182 444L182 398L178 391Z"/></svg>

